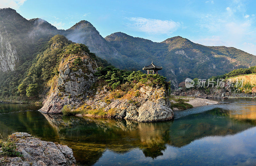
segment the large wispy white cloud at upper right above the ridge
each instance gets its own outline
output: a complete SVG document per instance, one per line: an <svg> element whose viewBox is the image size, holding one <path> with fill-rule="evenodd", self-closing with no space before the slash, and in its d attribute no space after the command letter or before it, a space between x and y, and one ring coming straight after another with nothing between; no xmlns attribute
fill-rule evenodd
<svg viewBox="0 0 256 166"><path fill-rule="evenodd" d="M231 4L222 12L204 15L197 25L205 35L193 40L204 45L236 47L256 55L255 20L244 19L250 16L245 14L244 8L242 4Z"/></svg>

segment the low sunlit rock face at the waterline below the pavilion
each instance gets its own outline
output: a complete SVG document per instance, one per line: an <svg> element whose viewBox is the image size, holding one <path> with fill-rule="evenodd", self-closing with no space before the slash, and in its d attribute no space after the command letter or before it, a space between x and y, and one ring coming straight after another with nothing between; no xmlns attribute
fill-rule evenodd
<svg viewBox="0 0 256 166"><path fill-rule="evenodd" d="M131 96L134 91L131 90L119 99L107 99L113 93L107 89L98 91L93 98L86 100L85 105L91 109L110 110L114 113L106 115L107 117L131 119L140 122L164 121L173 119L173 112L170 108L170 102L166 98L167 94L163 87L142 86ZM90 116L90 115L89 115Z"/></svg>

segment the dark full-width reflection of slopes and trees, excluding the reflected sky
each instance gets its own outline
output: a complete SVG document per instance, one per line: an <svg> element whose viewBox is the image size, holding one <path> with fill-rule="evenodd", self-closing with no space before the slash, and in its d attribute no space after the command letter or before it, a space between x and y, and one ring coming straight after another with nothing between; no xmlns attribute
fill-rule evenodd
<svg viewBox="0 0 256 166"><path fill-rule="evenodd" d="M29 105L23 107L39 109ZM163 155L167 146L180 148L196 139L230 136L256 125L256 109L252 107L244 107L241 111L214 108L157 123L18 110L21 108L15 105L1 105L1 134L7 136L13 131L24 131L43 140L66 144L73 149L78 163L83 165L95 164L106 150L125 154L139 148L145 157L156 159Z"/></svg>

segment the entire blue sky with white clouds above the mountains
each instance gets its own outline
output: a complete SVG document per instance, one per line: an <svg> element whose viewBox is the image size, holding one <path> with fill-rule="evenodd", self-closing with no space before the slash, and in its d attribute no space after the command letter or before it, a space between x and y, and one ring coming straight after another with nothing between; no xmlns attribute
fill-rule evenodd
<svg viewBox="0 0 256 166"><path fill-rule="evenodd" d="M41 18L58 29L87 20L103 37L124 32L161 42L182 36L204 45L232 46L256 55L254 0L0 0L26 19Z"/></svg>

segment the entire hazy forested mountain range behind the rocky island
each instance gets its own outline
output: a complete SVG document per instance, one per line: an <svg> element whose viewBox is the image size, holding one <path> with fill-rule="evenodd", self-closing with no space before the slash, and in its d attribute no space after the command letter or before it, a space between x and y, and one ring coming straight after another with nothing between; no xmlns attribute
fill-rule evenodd
<svg viewBox="0 0 256 166"><path fill-rule="evenodd" d="M174 87L186 77L208 78L256 65L256 57L233 47L204 46L180 36L161 43L117 32L103 38L85 20L58 30L45 20L27 20L10 8L0 9L0 97L19 95L18 86L47 49L54 35L87 45L91 52L120 69L142 70L153 62ZM43 62L42 62L43 63ZM30 68L30 69L29 69ZM29 70L28 70L29 69Z"/></svg>

